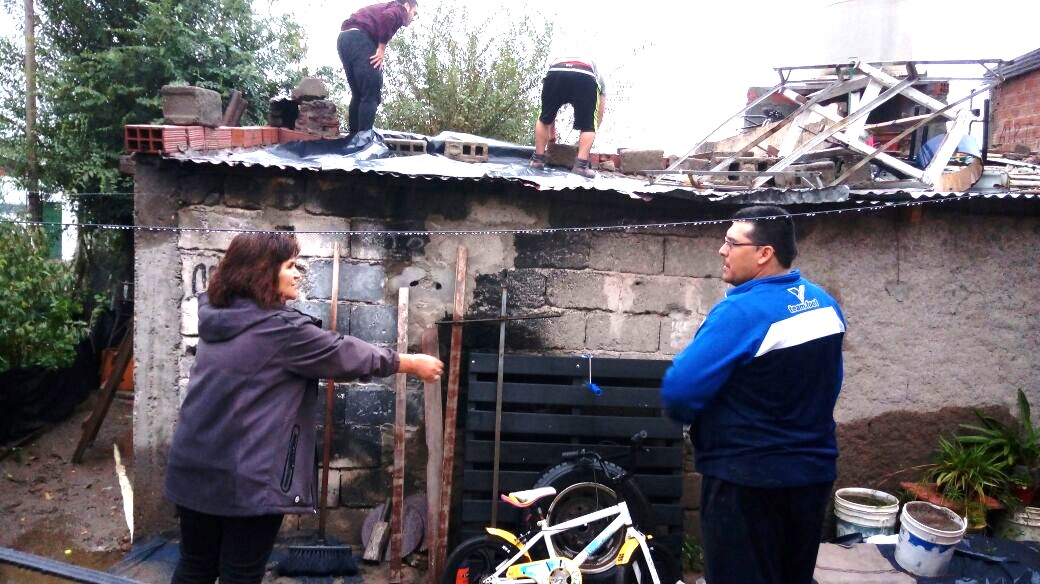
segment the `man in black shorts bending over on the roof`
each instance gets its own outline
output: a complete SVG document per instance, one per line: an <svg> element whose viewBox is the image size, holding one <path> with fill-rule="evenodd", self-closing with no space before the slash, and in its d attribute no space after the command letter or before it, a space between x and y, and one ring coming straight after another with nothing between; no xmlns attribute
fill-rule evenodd
<svg viewBox="0 0 1040 584"><path fill-rule="evenodd" d="M555 137L556 113L564 104L574 108L574 129L581 132L572 170L582 177L595 177L596 172L589 165L589 153L596 141L596 129L603 122L606 83L596 63L584 58L554 61L542 80L542 113L535 124L535 155L530 158L530 167L545 167L545 148Z"/></svg>

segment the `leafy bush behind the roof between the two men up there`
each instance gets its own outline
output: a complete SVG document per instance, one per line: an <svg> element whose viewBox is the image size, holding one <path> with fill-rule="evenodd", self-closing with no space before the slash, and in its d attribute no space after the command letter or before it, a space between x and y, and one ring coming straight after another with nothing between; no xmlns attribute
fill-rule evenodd
<svg viewBox="0 0 1040 584"><path fill-rule="evenodd" d="M508 15L474 25L453 7L430 21L390 43L380 126L529 141L552 26Z"/></svg>

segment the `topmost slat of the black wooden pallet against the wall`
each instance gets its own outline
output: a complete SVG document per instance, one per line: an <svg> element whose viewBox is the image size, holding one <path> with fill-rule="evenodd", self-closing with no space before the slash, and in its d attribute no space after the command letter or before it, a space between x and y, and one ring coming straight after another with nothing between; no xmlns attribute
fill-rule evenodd
<svg viewBox="0 0 1040 584"><path fill-rule="evenodd" d="M648 379L657 381L665 375L672 362L667 360L593 360L593 376L618 379ZM497 373L497 353L471 353L470 374ZM560 375L565 377L589 377L589 360L566 356L505 355L505 374Z"/></svg>

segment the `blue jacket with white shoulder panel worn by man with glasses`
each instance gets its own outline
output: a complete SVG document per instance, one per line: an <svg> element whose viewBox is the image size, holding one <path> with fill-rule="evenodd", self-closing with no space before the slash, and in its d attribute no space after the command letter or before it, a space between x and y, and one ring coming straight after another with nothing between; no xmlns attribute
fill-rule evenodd
<svg viewBox="0 0 1040 584"><path fill-rule="evenodd" d="M702 474L757 487L833 481L844 317L798 270L726 294L665 374Z"/></svg>

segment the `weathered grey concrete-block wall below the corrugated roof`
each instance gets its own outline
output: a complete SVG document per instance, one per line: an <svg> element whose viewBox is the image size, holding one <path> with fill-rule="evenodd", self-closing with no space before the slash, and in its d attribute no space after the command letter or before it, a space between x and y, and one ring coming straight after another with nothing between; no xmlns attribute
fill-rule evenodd
<svg viewBox="0 0 1040 584"><path fill-rule="evenodd" d="M629 200L613 192L541 193L505 182L168 162L139 165L137 184L138 205L153 195L172 202L174 221L182 228L526 230L723 218L734 210L665 197ZM875 439L888 449L899 443L893 436L902 436L913 452L927 457L934 435L915 431L936 431L938 426L928 421L944 407L959 405L964 416L976 405L1006 409L1019 387L1032 398L1040 397L1040 365L1035 359L1040 272L1033 251L1040 240L1040 220L1030 203L999 203L982 210L966 205L936 206L922 215L884 211L799 221L803 238L798 267L839 298L849 320L846 386L836 418L852 455L841 459L840 480L870 480L856 469L890 472L915 459L907 456L909 444L899 452L873 450ZM995 214L987 214L990 211ZM307 271L298 307L328 320L332 242L339 241L338 328L390 346L397 289L407 286L409 336L415 350L422 329L450 313L456 251L465 245L467 315L497 315L503 276L510 314L561 315L511 324L511 352L668 360L688 343L725 292L726 285L718 278L718 248L726 227L551 235L301 234ZM138 409L149 417L147 422L135 420L137 432L153 433L137 446L151 453L138 458L154 467L146 472L161 476L158 464L168 447L177 403L159 396L165 388L183 392L187 387L197 335L196 297L231 237L182 232L138 248L138 295L148 294L149 285L173 286L179 293L174 307L138 298L137 359L179 365L175 373L138 373L138 399L155 403L147 412ZM165 260L171 255L176 265ZM145 256L162 261L153 264ZM146 306L153 312L144 314ZM179 326L181 335L165 346L146 338L142 322L165 323L167 329ZM496 348L497 338L497 328L491 326L470 326L464 335L467 348ZM441 339L446 342L446 330ZM446 349L442 356L446 359ZM417 493L424 488L425 454L422 393L414 380L408 402L407 490ZM941 422L953 429L963 418L960 414L943 415ZM331 528L357 542L364 513L389 493L392 380L338 384L334 420L330 499L337 508ZM842 434L846 427L853 431ZM872 428L884 435L872 436ZM921 444L913 443L915 436ZM685 501L696 522L698 482L691 477L688 484L692 493ZM150 492L142 499L141 507L154 507L158 495ZM311 520L291 519L286 529L313 527ZM153 528L141 526L146 533Z"/></svg>

